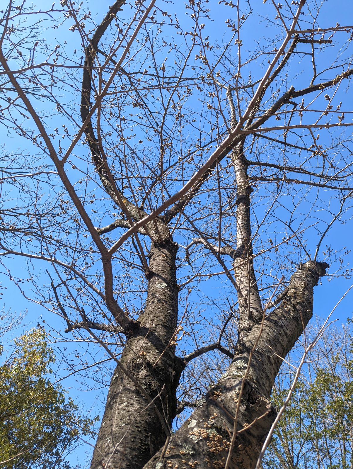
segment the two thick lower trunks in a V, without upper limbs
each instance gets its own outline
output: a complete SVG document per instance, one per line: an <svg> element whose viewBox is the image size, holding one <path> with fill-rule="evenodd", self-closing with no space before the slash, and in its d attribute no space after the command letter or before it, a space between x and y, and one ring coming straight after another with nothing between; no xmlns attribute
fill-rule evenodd
<svg viewBox="0 0 353 469"><path fill-rule="evenodd" d="M172 242L151 249L153 274L146 308L139 332L128 340L121 357L121 363L152 398L163 390L155 403L169 425L175 416L175 390L181 371L174 348L166 348L177 320L175 254ZM145 469L221 469L231 445L229 468L254 468L276 416L270 392L282 357L293 348L312 317L313 287L327 267L325 263L308 262L293 274L281 304L263 325L254 325L238 342L228 371L163 448L167 435L155 408L148 406L146 398L118 368L109 389L91 469L138 469L143 464ZM163 350L164 355L153 367ZM240 394L236 423L239 433L232 443Z"/></svg>

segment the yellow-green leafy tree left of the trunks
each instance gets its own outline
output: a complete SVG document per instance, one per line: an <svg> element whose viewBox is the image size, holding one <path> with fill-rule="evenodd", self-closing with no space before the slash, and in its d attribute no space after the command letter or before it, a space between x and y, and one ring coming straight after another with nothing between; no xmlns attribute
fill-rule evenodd
<svg viewBox="0 0 353 469"><path fill-rule="evenodd" d="M54 362L45 333L35 329L15 340L0 366L0 461L10 460L1 468L67 469L70 449L91 434L93 421L49 379Z"/></svg>

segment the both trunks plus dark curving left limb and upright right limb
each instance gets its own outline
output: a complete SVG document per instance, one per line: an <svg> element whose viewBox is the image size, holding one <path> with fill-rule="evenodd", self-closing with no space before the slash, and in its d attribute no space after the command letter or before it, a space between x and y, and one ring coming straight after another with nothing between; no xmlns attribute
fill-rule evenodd
<svg viewBox="0 0 353 469"><path fill-rule="evenodd" d="M94 125L88 120L91 69L98 43L124 3L123 0L114 3L85 49L81 117L86 123L92 161L102 186L132 226L146 213L116 187L99 139L99 125L96 136ZM231 95L230 105L233 105ZM233 110L232 124L236 125ZM173 345L178 319L177 246L166 224L156 218L144 227L152 243L150 263L145 266L146 306L128 331L127 345L120 358L122 367L117 366L113 374L91 469L139 469L144 464L149 469L221 469L228 453L229 468L255 466L276 416L269 400L274 379L282 357L293 347L312 315L313 286L324 274L326 265L309 262L293 274L280 306L263 318L252 260L251 186L243 153L244 138L235 138L225 150L225 154L232 150L237 185L236 252L240 253L233 262L240 305L239 340L233 362L207 393L203 405L169 439L168 429L176 412L176 388L185 364L175 356ZM202 182L196 184L194 192ZM188 200L187 197L178 205L178 212ZM165 221L169 219L169 215L165 217ZM153 402L141 392L141 387Z"/></svg>

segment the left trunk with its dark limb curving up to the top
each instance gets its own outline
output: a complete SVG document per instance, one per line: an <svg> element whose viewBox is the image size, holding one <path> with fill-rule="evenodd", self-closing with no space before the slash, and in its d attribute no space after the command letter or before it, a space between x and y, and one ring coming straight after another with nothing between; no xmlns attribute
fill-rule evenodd
<svg viewBox="0 0 353 469"><path fill-rule="evenodd" d="M92 91L91 68L99 49L99 41L124 3L125 0L118 0L109 7L108 14L85 49L81 118L86 122L85 134L102 186L125 213L128 220L123 221L128 227L133 225L134 220L146 216L146 213L117 189L104 149L100 145L99 135L95 135L92 121L87 121ZM121 226L121 223L117 226ZM97 231L103 234L114 227ZM178 247L160 219L148 223L143 231L151 238L149 265L145 265L148 278L146 305L138 320L131 321L125 327L128 341L120 358L122 367L117 366L111 380L91 462L92 469L142 467L164 444L176 412L175 391L183 363L175 356L175 347L170 341L178 319L175 276ZM137 236L136 241L138 242ZM110 259L108 261L111 270ZM105 283L108 274L105 274ZM107 306L110 309L109 303ZM131 376L145 394L137 388ZM153 400L152 403L146 398L146 394Z"/></svg>

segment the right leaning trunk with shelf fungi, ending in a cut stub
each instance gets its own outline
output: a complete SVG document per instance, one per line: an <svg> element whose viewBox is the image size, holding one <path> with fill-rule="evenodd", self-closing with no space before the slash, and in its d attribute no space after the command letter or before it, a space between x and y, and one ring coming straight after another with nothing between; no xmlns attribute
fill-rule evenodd
<svg viewBox="0 0 353 469"><path fill-rule="evenodd" d="M263 326L254 325L244 340L239 341L228 371L207 393L203 405L195 410L168 445L144 469L224 468L239 398L239 433L235 438L229 468L255 467L276 417L270 392L282 363L281 357L293 348L312 317L313 287L327 267L326 263L310 261L293 274L282 303L264 319Z"/></svg>

